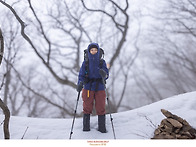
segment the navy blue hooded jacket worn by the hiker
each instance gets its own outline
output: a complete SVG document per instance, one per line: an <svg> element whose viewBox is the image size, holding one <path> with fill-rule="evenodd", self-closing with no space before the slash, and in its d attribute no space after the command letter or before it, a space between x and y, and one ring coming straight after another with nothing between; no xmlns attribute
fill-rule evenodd
<svg viewBox="0 0 196 147"><path fill-rule="evenodd" d="M94 55L92 55L90 53L90 47L92 45L96 45L97 49L98 49L98 52ZM101 75L99 74L99 70L100 70L99 54L100 54L99 45L97 43L89 44L89 46L88 46L88 59L89 59L89 62L88 62L88 64L89 64L88 81L89 82L85 83L85 81L86 81L86 78L85 78L85 72L86 72L85 71L85 61L83 61L83 63L82 63L82 66L81 66L80 72L79 72L79 76L78 76L78 83L83 82L85 84L84 89L86 89L86 90L100 91L100 90L105 89L105 87L102 83L102 80L101 80ZM106 73L107 73L107 77L105 78L105 80L108 79L109 72L108 72L108 69L106 67L105 60L103 60L103 65L102 65L101 68L104 71L106 71ZM98 86L97 86L97 81L95 79L100 79L99 83L98 83Z"/></svg>

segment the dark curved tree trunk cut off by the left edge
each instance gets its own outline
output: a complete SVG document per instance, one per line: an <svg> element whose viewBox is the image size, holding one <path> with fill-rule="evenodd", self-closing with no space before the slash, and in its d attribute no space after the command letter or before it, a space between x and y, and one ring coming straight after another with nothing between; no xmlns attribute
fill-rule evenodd
<svg viewBox="0 0 196 147"><path fill-rule="evenodd" d="M0 29L0 65L3 59L3 52L4 52L4 42L3 42L3 35ZM0 107L5 115L4 125L3 125L4 138L10 139L10 133L9 133L10 111L8 107L4 104L4 102L1 100L1 98L0 98Z"/></svg>

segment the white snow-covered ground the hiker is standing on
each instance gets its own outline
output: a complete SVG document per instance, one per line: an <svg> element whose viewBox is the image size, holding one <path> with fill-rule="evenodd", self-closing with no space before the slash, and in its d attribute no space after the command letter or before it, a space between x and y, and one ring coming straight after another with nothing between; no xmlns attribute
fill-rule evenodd
<svg viewBox="0 0 196 147"><path fill-rule="evenodd" d="M155 127L164 118L160 109L167 109L173 114L186 119L196 128L196 92L186 93L134 109L112 114L117 139L150 139ZM4 116L0 116L0 123ZM113 139L110 116L106 116L108 133L102 134L97 129L97 116L91 117L91 131L82 131L82 118L75 120L72 139ZM69 139L72 119L41 119L11 117L11 139ZM1 132L2 132L2 125ZM3 139L3 133L0 133Z"/></svg>

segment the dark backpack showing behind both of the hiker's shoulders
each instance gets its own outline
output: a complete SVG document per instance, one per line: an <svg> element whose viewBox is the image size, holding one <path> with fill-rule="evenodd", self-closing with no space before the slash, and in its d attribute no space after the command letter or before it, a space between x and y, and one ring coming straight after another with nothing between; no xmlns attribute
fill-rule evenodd
<svg viewBox="0 0 196 147"><path fill-rule="evenodd" d="M102 48L99 48L99 67L102 68L103 66L103 60L104 60L104 50ZM84 61L85 61L85 78L88 81L89 77L89 59L88 59L88 49L84 50Z"/></svg>

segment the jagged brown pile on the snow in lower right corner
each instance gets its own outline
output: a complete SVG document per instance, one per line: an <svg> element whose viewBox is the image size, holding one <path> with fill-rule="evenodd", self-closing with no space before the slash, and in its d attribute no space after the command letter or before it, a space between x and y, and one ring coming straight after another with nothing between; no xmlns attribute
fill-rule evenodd
<svg viewBox="0 0 196 147"><path fill-rule="evenodd" d="M181 117L172 114L171 112L161 109L165 119L154 132L152 139L195 139L196 130Z"/></svg>

